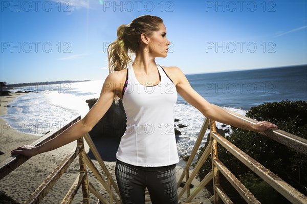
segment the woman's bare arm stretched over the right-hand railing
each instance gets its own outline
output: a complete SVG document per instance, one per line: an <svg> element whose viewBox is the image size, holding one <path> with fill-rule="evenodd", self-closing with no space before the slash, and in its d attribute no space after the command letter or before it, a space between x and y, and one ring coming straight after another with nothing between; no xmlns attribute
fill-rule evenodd
<svg viewBox="0 0 307 204"><path fill-rule="evenodd" d="M189 104L200 110L205 117L231 126L257 132L262 132L269 128L277 128L276 125L267 121L251 124L245 120L232 116L222 108L209 103L201 95L195 92L185 75L178 67L168 67L167 71L170 74L174 84L176 85L177 92Z"/></svg>

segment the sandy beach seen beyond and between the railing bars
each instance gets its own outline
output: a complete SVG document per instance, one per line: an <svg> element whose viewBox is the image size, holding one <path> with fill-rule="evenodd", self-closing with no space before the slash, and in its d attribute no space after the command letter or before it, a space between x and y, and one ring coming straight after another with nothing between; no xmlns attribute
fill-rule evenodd
<svg viewBox="0 0 307 204"><path fill-rule="evenodd" d="M14 100L14 98L23 94L27 93L14 93L10 94L10 96L1 96L1 116L7 114L7 110L8 108L10 108L6 107L6 105L8 105L12 100ZM0 119L0 123L0 151L4 153L0 155L0 162L4 161L7 157L11 155L11 150L24 144L31 144L40 138L40 136L38 135L28 134L23 131L11 128L9 124L2 118ZM60 161L62 161L63 158L75 148L76 144L77 142L74 141L56 150L45 152L30 158L30 160L28 160L26 163L24 163L15 171L11 172L5 178L0 180L0 190L4 191L7 195L12 197L16 202L23 203L31 195L31 193L43 182L43 180L56 168ZM97 149L99 149L98 146ZM89 152L89 147L87 146L87 144L85 144L85 151ZM93 162L97 167L99 167L97 161L93 160ZM115 162L105 162L105 165L113 176L114 180L116 180L114 175ZM180 177L183 171L183 165L183 161L181 161L180 164L177 165L177 178ZM100 172L102 172L101 168L98 169L100 170ZM67 191L73 184L76 176L78 175L78 172L79 162L78 159L76 159L69 167L69 169L58 180L56 185L49 191L47 196L43 199L42 203L60 203L64 195L67 193ZM88 175L90 182L94 185L94 187L101 193L106 195L105 190L103 189L101 184L99 184L99 182L95 179L94 174L89 171ZM194 186L197 185L198 180L193 180L192 184ZM193 191L193 189L191 189L191 191ZM202 191L199 195L200 196L196 196L197 200L202 200L207 195L207 193L205 191ZM97 198L91 193L90 196L91 202L97 203ZM181 200L181 202L182 201L184 201L184 199ZM82 191L80 189L72 203L81 202Z"/></svg>

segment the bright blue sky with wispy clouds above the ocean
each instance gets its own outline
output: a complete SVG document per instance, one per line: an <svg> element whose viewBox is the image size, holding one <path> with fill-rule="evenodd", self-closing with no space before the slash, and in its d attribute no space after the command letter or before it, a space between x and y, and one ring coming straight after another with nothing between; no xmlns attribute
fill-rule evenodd
<svg viewBox="0 0 307 204"><path fill-rule="evenodd" d="M0 81L100 80L117 28L161 17L185 74L307 64L307 1L4 1Z"/></svg>

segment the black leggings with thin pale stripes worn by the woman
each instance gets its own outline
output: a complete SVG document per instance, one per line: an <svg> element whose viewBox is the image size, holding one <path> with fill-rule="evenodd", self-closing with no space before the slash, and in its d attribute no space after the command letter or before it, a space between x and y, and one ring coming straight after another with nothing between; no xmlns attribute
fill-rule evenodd
<svg viewBox="0 0 307 204"><path fill-rule="evenodd" d="M178 204L175 167L140 167L117 160L115 175L123 203L144 204L147 187L152 204Z"/></svg>

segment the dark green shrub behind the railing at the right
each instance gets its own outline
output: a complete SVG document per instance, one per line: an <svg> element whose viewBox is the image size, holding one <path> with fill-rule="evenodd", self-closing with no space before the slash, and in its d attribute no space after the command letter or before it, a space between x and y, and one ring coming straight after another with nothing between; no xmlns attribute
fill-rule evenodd
<svg viewBox="0 0 307 204"><path fill-rule="evenodd" d="M307 138L307 102L306 101L280 101L273 103L264 103L252 107L246 114L247 117L257 121L270 121L278 126L279 129L295 134L304 139ZM265 166L273 173L277 174L287 183L292 185L301 193L307 195L307 156L295 152L291 148L279 144L278 142L265 137L257 132L231 127L233 132L226 137L231 143L253 157L261 165ZM204 151L204 148L198 153L198 158ZM218 158L223 164L236 176L244 175L244 182L248 182L251 188L253 177L247 174L249 169L232 156L225 148L218 145ZM211 159L211 158L210 158ZM208 160L199 172L199 178L202 179L211 169L211 161ZM220 174L221 175L221 174ZM241 203L242 198L233 192L232 186L221 176L221 185L227 194L235 203ZM266 186L257 183L254 180L257 191L265 192ZM257 183L257 184L256 184ZM212 192L212 182L206 186ZM264 188L261 190L261 188ZM250 190L250 189L249 189ZM275 190L273 190L276 192ZM269 194L271 195L271 194ZM282 195L271 196L272 201L262 201L262 203L290 203Z"/></svg>

